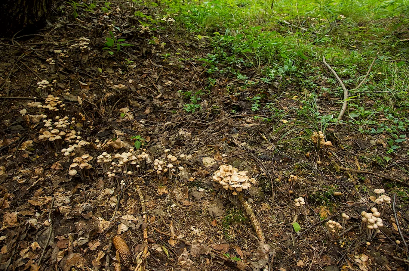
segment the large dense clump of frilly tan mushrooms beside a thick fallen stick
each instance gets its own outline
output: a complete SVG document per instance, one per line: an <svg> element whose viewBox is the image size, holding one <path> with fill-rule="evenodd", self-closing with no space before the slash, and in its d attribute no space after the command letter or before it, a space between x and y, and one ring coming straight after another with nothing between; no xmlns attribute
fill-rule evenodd
<svg viewBox="0 0 409 271"><path fill-rule="evenodd" d="M250 188L256 179L249 178L247 171L238 171L231 165L221 165L219 170L214 172L213 180L223 189L223 196L228 197L231 201L236 201L237 192Z"/></svg>

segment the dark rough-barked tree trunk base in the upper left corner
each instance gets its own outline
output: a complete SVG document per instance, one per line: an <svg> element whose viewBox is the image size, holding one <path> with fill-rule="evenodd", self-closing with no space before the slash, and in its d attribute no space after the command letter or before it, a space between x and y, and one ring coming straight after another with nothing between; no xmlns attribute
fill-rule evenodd
<svg viewBox="0 0 409 271"><path fill-rule="evenodd" d="M0 36L44 26L52 0L1 0Z"/></svg>

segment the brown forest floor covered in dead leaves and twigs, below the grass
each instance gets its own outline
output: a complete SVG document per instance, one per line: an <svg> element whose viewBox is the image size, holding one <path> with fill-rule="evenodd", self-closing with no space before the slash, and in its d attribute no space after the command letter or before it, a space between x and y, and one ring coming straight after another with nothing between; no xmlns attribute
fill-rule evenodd
<svg viewBox="0 0 409 271"><path fill-rule="evenodd" d="M96 3L0 39L1 270L407 270L408 81L386 90L391 61L355 78L327 57L365 86L338 122L322 55L265 76L161 5ZM221 165L254 178L238 199Z"/></svg>

